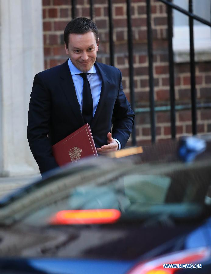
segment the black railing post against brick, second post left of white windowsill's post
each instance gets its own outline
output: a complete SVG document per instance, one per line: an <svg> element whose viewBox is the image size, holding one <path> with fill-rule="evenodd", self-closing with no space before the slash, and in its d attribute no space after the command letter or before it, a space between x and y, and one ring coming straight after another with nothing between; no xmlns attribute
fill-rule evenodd
<svg viewBox="0 0 211 274"><path fill-rule="evenodd" d="M152 27L151 27L151 8L150 0L146 0L147 12L147 44L149 61L149 102L150 102L150 121L151 121L151 140L155 142L155 102L154 102L154 79L153 79L153 46L152 46Z"/></svg>

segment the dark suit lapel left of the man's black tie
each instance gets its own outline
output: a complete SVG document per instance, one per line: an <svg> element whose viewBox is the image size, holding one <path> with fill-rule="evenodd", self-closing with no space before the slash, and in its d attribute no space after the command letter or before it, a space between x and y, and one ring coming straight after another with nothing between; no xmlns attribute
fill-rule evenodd
<svg viewBox="0 0 211 274"><path fill-rule="evenodd" d="M69 59L68 59L69 60ZM61 86L62 90L70 104L71 110L74 113L79 124L84 125L83 116L80 111L80 105L76 96L75 86L72 80L72 75L69 70L68 60L61 65Z"/></svg>

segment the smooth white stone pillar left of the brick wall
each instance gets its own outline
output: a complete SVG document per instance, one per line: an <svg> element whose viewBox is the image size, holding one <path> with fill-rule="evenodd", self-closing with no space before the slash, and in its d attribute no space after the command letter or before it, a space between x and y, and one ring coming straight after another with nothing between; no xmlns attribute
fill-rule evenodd
<svg viewBox="0 0 211 274"><path fill-rule="evenodd" d="M42 1L0 0L0 12L0 174L35 174L26 130L33 78L44 70Z"/></svg>

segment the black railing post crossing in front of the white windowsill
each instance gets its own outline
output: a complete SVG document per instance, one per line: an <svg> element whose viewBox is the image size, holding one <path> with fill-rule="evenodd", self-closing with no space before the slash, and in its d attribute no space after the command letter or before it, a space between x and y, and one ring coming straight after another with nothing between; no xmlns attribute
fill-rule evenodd
<svg viewBox="0 0 211 274"><path fill-rule="evenodd" d="M193 3L189 0L189 12L193 13ZM191 104L192 104L192 134L197 133L196 127L196 90L195 90L195 56L194 56L194 37L193 37L193 18L189 17L190 30L190 71L191 71Z"/></svg>

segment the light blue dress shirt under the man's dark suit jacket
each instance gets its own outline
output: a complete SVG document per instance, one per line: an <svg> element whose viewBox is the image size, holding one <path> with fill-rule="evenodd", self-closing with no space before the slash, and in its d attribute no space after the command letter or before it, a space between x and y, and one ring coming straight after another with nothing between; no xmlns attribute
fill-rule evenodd
<svg viewBox="0 0 211 274"><path fill-rule="evenodd" d="M79 75L79 73L82 73L83 71L80 71L78 68L76 68L71 60L68 60L68 65L70 69L70 73L72 75L72 80L75 86L76 90L76 96L80 105L80 110L82 112L82 107L83 107L83 78ZM94 65L90 68L88 73L88 81L90 83L90 88L91 88L91 93L92 93L92 99L93 99L93 116L95 114L95 111L97 109L97 105L100 99L100 91L102 87L102 79L100 77L99 72L96 70ZM121 149L121 143L117 140L114 139L118 142L119 149Z"/></svg>

